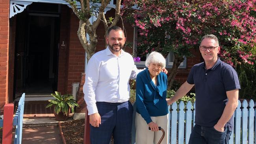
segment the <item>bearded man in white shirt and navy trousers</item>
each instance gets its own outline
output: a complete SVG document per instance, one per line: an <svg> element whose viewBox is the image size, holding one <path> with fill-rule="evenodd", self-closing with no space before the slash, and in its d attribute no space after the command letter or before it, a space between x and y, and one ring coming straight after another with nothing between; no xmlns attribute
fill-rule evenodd
<svg viewBox="0 0 256 144"><path fill-rule="evenodd" d="M130 144L133 107L129 102L129 79L139 70L132 55L122 50L126 38L118 26L109 28L108 47L88 62L83 92L87 104L92 144Z"/></svg>

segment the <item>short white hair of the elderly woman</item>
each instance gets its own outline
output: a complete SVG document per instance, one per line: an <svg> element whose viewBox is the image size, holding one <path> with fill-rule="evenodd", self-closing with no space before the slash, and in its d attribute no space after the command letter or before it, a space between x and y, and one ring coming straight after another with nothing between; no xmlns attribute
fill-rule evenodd
<svg viewBox="0 0 256 144"><path fill-rule="evenodd" d="M149 66L150 63L161 64L162 68L165 68L165 58L159 52L151 52L146 59L145 66Z"/></svg>

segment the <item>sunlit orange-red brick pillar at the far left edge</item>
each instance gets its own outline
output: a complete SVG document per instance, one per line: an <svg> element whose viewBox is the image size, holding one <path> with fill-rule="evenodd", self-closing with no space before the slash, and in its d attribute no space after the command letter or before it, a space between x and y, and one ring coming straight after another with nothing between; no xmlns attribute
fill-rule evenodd
<svg viewBox="0 0 256 144"><path fill-rule="evenodd" d="M7 102L9 51L9 0L0 0L0 110Z"/></svg>

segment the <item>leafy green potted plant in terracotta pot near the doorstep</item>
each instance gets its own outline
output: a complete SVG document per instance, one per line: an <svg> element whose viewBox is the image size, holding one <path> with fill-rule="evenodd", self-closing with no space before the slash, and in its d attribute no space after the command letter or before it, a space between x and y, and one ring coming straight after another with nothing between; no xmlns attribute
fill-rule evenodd
<svg viewBox="0 0 256 144"><path fill-rule="evenodd" d="M47 107L54 106L54 116L58 121L64 121L69 118L70 109L74 114L74 107L79 105L73 100L72 94L65 94L61 96L61 94L55 91L55 94L51 94L55 100L48 100L50 102Z"/></svg>

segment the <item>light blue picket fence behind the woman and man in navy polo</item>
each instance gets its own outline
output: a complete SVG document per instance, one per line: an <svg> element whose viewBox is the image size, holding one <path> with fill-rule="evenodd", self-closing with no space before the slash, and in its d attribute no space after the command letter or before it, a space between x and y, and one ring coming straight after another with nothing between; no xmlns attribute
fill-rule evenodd
<svg viewBox="0 0 256 144"><path fill-rule="evenodd" d="M246 100L238 101L237 109L234 113L234 129L229 140L229 144L255 144L256 143L256 110L254 109L256 104L253 100L250 100L249 105ZM195 104L194 106L195 107ZM186 108L186 111L184 109ZM170 137L168 138L169 144L188 144L189 136L192 127L195 125L195 111L192 109L192 103L188 102L186 107L184 102L173 103L169 110L169 124L168 131L170 131ZM177 111L177 109L179 109ZM134 120L132 124L132 144L135 144L135 112L136 105L134 104ZM170 128L171 125L171 128ZM178 129L177 129L178 127ZM184 131L184 128L186 128Z"/></svg>

